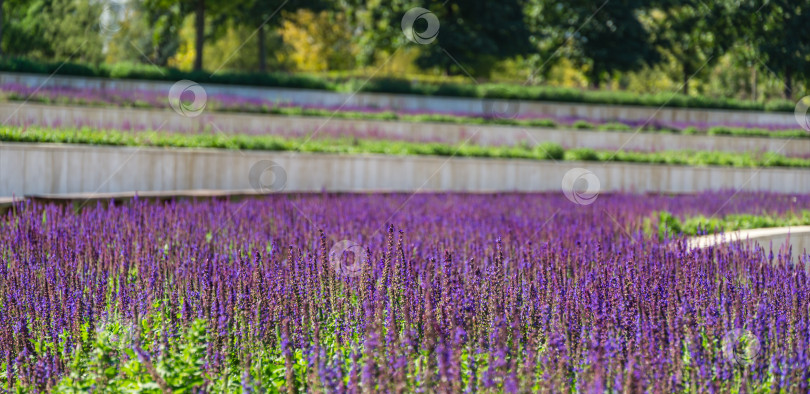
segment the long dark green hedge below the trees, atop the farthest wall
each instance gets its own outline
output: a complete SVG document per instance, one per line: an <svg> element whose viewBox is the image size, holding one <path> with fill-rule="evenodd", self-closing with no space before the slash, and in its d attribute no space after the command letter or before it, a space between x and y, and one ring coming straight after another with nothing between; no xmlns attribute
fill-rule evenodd
<svg viewBox="0 0 810 394"><path fill-rule="evenodd" d="M406 79L396 78L376 78L366 81L361 78L325 78L306 74L279 72L221 72L211 75L208 72L185 72L174 68L157 68L151 65L132 63L94 67L73 63L43 63L10 57L0 59L0 71L165 81L190 79L200 83L320 89L340 92L359 90L365 92L428 96L502 98L651 107L667 106L784 112L791 112L794 109L794 103L787 100L755 102L729 98L686 96L677 93L638 94L622 91L587 91L550 86L523 86L503 83L486 83L479 85L458 83L435 84L412 82Z"/></svg>

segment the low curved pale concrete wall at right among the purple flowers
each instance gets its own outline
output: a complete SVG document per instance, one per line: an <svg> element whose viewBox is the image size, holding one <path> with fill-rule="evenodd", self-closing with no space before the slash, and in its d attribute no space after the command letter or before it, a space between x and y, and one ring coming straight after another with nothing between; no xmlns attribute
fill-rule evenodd
<svg viewBox="0 0 810 394"><path fill-rule="evenodd" d="M729 242L759 244L766 253L786 253L792 247L793 262L798 262L803 253L810 252L810 226L757 228L731 231L724 234L706 235L689 240L690 248L707 248ZM807 262L805 269L810 269Z"/></svg>

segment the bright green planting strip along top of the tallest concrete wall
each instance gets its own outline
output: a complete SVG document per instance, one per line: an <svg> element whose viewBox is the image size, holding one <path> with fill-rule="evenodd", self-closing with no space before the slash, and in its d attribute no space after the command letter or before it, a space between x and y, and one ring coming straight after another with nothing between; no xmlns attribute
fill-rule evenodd
<svg viewBox="0 0 810 394"><path fill-rule="evenodd" d="M0 141L29 143L69 143L112 146L154 146L176 148L214 148L321 153L380 153L388 155L435 155L492 157L533 160L613 161L689 166L730 167L810 167L810 159L785 157L776 153L751 154L714 151L628 152L596 151L579 148L565 150L553 143L531 146L477 146L420 143L356 138L303 139L273 135L170 134L165 132L129 133L116 130L20 128L0 126Z"/></svg>

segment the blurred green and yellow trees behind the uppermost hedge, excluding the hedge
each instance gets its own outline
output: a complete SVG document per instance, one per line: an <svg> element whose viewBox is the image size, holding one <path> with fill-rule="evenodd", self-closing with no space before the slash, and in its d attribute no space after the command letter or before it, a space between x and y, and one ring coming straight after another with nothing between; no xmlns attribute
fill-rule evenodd
<svg viewBox="0 0 810 394"><path fill-rule="evenodd" d="M113 1L126 5L128 19L110 34L99 16ZM420 45L403 34L402 18L414 7L438 19L435 41ZM506 75L598 87L613 78L623 87L655 75L666 79L658 86L682 83L687 94L760 100L778 95L778 82L790 99L810 75L808 9L810 0L0 0L0 56L94 69L106 59L266 72L296 69L295 51L321 48L339 60L328 61L327 71L350 74L394 58L405 63L400 70L436 74L422 79ZM301 26L292 20L300 10L317 19ZM285 36L285 21L306 34ZM419 19L414 30L425 27ZM302 39L311 45L299 45ZM634 74L616 78L628 72ZM407 90L419 78L389 81L382 90Z"/></svg>

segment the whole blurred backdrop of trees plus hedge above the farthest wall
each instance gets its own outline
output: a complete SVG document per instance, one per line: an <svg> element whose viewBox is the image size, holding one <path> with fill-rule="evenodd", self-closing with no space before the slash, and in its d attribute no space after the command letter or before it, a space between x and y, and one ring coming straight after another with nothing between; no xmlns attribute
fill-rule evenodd
<svg viewBox="0 0 810 394"><path fill-rule="evenodd" d="M0 71L766 110L792 109L810 75L808 1L0 4ZM436 45L408 45L414 6L441 21Z"/></svg>

